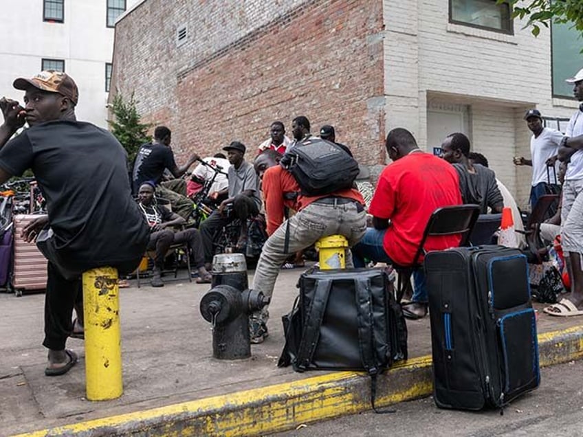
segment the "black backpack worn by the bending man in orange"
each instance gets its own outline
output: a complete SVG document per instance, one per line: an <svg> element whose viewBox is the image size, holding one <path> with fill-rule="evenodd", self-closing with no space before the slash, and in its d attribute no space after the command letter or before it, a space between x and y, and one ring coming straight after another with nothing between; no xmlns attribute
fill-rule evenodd
<svg viewBox="0 0 583 437"><path fill-rule="evenodd" d="M301 194L320 196L351 188L358 176L358 162L342 148L320 138L298 143L283 155L280 164L292 173Z"/></svg>

